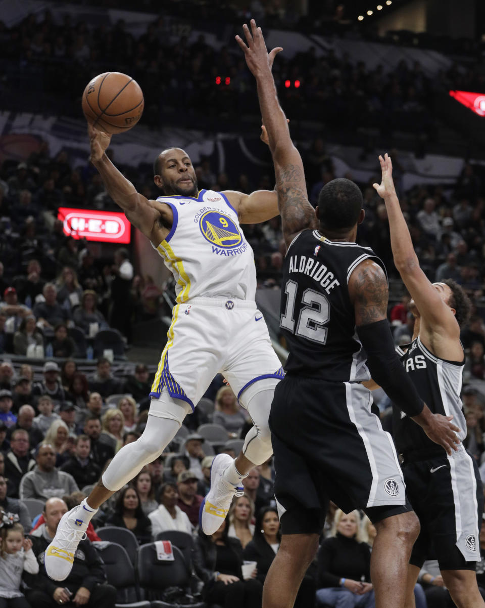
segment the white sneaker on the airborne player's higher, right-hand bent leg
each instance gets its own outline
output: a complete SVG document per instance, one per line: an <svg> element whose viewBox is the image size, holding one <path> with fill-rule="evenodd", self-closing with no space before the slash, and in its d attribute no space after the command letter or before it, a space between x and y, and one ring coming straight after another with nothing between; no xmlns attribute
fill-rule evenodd
<svg viewBox="0 0 485 608"><path fill-rule="evenodd" d="M234 458L229 454L218 454L211 466L211 489L200 505L198 523L204 534L211 536L219 528L229 511L233 496L242 496L243 486L234 486L224 477L223 472L232 465Z"/></svg>

